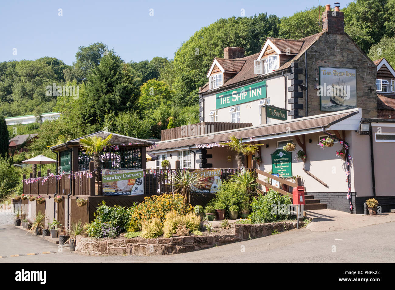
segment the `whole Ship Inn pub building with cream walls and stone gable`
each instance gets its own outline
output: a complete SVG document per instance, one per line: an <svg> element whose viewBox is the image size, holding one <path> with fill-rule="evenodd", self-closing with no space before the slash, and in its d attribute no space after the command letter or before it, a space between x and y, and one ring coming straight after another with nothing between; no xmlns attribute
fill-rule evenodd
<svg viewBox="0 0 395 290"><path fill-rule="evenodd" d="M344 32L339 3L333 10L326 5L322 18L322 32L301 39L268 37L256 54L224 48L199 89L200 123L163 130L161 141L147 148L158 157L147 168L162 169L165 159L171 168L236 168L235 153L218 144L234 135L263 144L246 157L246 167L301 176L306 194L314 196L310 209L363 213L372 197L382 211L395 208L389 182L395 74L385 61L380 69L387 75L378 77L379 64ZM320 140L328 136L335 142L322 148ZM296 144L295 151L282 150L288 142ZM305 158L297 158L299 150Z"/></svg>

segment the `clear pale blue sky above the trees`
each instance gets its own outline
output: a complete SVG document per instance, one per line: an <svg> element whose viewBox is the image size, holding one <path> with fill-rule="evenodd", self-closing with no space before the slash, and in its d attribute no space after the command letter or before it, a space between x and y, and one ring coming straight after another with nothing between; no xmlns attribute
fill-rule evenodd
<svg viewBox="0 0 395 290"><path fill-rule="evenodd" d="M321 0L320 4L336 1L326 2ZM196 30L219 18L240 16L241 9L248 17L261 12L282 17L317 5L318 0L2 0L0 61L51 56L71 64L79 46L95 42L105 43L125 62L154 56L173 58ZM63 16L58 16L59 8ZM149 15L151 8L154 16ZM17 55L13 55L14 48Z"/></svg>

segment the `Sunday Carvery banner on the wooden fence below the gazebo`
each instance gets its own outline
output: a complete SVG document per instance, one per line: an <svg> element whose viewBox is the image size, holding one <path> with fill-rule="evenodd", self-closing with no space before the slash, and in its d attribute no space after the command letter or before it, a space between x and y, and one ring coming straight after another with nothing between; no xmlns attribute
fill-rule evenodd
<svg viewBox="0 0 395 290"><path fill-rule="evenodd" d="M143 170L103 169L103 195L143 195Z"/></svg>

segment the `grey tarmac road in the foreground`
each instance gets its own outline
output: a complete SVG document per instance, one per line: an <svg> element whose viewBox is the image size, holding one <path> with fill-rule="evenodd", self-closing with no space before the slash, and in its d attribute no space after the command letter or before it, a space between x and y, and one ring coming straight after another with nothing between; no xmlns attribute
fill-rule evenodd
<svg viewBox="0 0 395 290"><path fill-rule="evenodd" d="M337 231L290 230L275 236L166 256L83 256L74 252L0 258L40 262L395 262L395 222ZM241 250L244 249L244 252ZM12 225L0 225L0 256L57 251L58 246ZM295 253L303 253L297 255Z"/></svg>

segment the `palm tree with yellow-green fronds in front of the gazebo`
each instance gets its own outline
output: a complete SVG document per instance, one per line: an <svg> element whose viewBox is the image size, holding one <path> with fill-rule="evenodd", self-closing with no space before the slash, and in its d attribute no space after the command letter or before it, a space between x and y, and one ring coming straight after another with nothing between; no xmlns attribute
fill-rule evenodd
<svg viewBox="0 0 395 290"><path fill-rule="evenodd" d="M79 140L79 144L82 149L85 150L85 154L88 156L93 156L93 162L96 170L96 183L100 181L100 170L102 166L100 164L100 153L103 152L106 146L110 145L109 140L113 137L113 134L107 136L107 138L102 139L102 137L85 137Z"/></svg>

